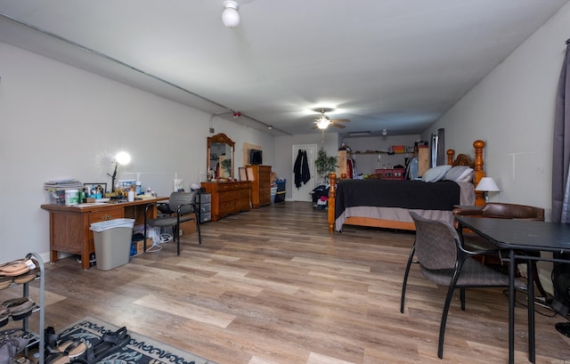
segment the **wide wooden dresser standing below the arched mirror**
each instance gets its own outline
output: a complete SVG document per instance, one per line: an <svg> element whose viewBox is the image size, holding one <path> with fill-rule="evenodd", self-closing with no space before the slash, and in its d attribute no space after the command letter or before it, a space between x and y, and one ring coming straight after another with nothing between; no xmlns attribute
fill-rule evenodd
<svg viewBox="0 0 570 364"><path fill-rule="evenodd" d="M251 182L202 182L212 196L212 221L251 210Z"/></svg>

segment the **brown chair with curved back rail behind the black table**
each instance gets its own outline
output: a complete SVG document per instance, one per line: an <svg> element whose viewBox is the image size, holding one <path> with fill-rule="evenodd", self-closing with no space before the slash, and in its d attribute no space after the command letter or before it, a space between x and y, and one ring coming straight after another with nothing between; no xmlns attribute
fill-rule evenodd
<svg viewBox="0 0 570 364"><path fill-rule="evenodd" d="M544 209L541 207L515 205L515 204L502 204L498 202L490 202L483 207L476 206L461 206L453 209L453 214L456 216L473 216L485 217L492 219L517 219L517 220L534 220L544 221ZM487 258L501 256L501 252L494 244L478 234L473 234L465 231L460 231L463 235L464 245L467 250L483 250L482 262L485 263ZM540 255L540 253L538 253ZM542 287L541 279L538 275L536 261L532 262L534 269L534 284L542 297L547 297L547 293Z"/></svg>

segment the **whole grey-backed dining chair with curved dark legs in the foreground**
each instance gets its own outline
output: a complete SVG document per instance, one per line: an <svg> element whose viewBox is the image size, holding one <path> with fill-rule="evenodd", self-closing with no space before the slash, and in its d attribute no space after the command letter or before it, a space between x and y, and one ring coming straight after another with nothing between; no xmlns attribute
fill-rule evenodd
<svg viewBox="0 0 570 364"><path fill-rule="evenodd" d="M509 276L473 259L474 252L461 247L459 234L449 222L426 219L414 212L410 215L416 226L416 239L403 276L400 311L403 313L411 263L419 263L421 273L429 281L448 287L437 344L437 356L442 359L445 324L455 288L460 288L461 310L465 311L465 288L509 287ZM515 287L525 285L516 280Z"/></svg>

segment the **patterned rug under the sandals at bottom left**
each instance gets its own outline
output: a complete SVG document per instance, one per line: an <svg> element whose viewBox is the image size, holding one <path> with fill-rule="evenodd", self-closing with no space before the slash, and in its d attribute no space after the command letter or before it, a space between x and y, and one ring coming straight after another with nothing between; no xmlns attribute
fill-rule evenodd
<svg viewBox="0 0 570 364"><path fill-rule="evenodd" d="M105 332L114 332L118 329L109 322L94 319L93 317L85 317L77 323L64 328L60 336L71 336L74 338L83 338L89 343L96 342ZM126 327L127 334L131 336L131 342L123 347L120 351L110 354L102 360L102 363L127 363L127 364L216 364L214 361L207 360L194 355L190 352L183 352L169 346L159 343L149 337L142 336L132 332Z"/></svg>

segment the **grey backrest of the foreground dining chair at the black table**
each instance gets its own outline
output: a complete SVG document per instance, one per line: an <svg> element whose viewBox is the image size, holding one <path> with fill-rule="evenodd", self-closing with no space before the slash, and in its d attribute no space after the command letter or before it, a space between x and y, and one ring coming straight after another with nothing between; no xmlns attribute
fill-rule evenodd
<svg viewBox="0 0 570 364"><path fill-rule="evenodd" d="M453 269L460 237L448 222L429 220L410 212L416 225L415 249L419 264L428 270Z"/></svg>

